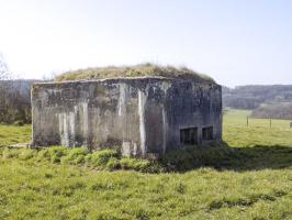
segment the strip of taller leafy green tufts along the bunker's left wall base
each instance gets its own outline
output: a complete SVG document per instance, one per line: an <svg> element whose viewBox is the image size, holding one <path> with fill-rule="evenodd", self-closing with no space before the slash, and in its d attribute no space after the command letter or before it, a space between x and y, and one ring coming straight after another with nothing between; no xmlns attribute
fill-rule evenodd
<svg viewBox="0 0 292 220"><path fill-rule="evenodd" d="M115 150L102 150L90 153L86 147L68 148L52 146L42 150L2 148L3 158L34 160L54 164L87 165L99 169L134 169L145 173L161 173L166 169L161 163L139 158L121 158ZM184 158L181 158L184 160Z"/></svg>

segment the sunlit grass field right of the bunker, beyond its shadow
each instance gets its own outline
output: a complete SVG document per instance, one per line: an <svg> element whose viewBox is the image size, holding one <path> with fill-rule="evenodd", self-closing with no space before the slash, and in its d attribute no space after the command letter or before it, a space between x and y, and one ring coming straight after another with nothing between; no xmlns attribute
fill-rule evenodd
<svg viewBox="0 0 292 220"><path fill-rule="evenodd" d="M288 120L250 119L247 127L247 116L250 111L232 110L224 116L224 141L229 146L292 146L292 128Z"/></svg>

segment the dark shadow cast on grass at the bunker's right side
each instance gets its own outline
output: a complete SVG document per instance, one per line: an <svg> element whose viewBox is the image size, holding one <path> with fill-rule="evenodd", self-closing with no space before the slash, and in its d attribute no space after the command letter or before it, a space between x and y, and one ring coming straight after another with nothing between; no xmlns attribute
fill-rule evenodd
<svg viewBox="0 0 292 220"><path fill-rule="evenodd" d="M186 146L183 150L169 152L159 163L167 172L188 172L198 167L236 172L281 169L292 167L292 146L229 147L227 143Z"/></svg>

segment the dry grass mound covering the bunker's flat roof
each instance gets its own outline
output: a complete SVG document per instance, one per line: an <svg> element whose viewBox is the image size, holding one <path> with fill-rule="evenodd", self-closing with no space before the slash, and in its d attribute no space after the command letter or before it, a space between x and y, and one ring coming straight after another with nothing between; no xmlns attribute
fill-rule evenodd
<svg viewBox="0 0 292 220"><path fill-rule="evenodd" d="M166 77L195 80L198 82L215 81L202 74L198 74L186 67L160 66L154 64L141 64L135 66L108 66L96 67L64 73L55 78L55 81L66 80L90 80L104 78L126 78L126 77Z"/></svg>

